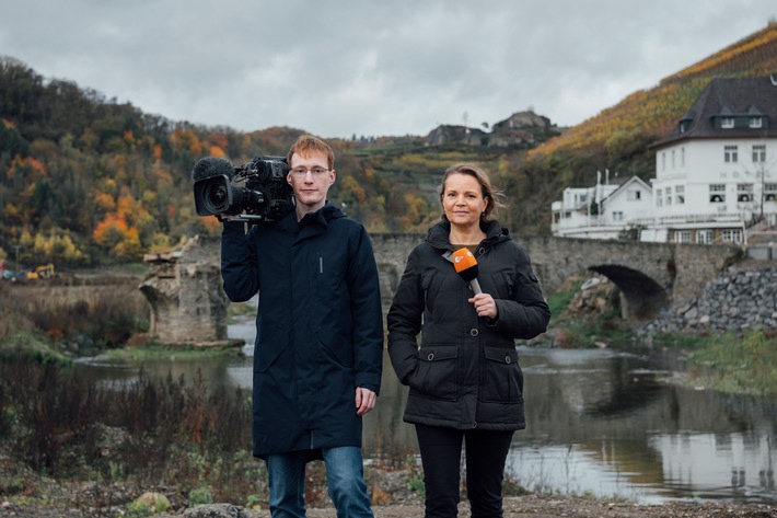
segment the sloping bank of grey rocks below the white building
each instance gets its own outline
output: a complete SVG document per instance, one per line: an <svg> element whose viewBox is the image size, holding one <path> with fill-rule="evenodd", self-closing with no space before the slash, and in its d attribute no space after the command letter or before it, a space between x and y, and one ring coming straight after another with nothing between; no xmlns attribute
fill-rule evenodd
<svg viewBox="0 0 777 518"><path fill-rule="evenodd" d="M638 330L662 333L777 330L777 266L730 267L714 278L697 298L676 301Z"/></svg>

